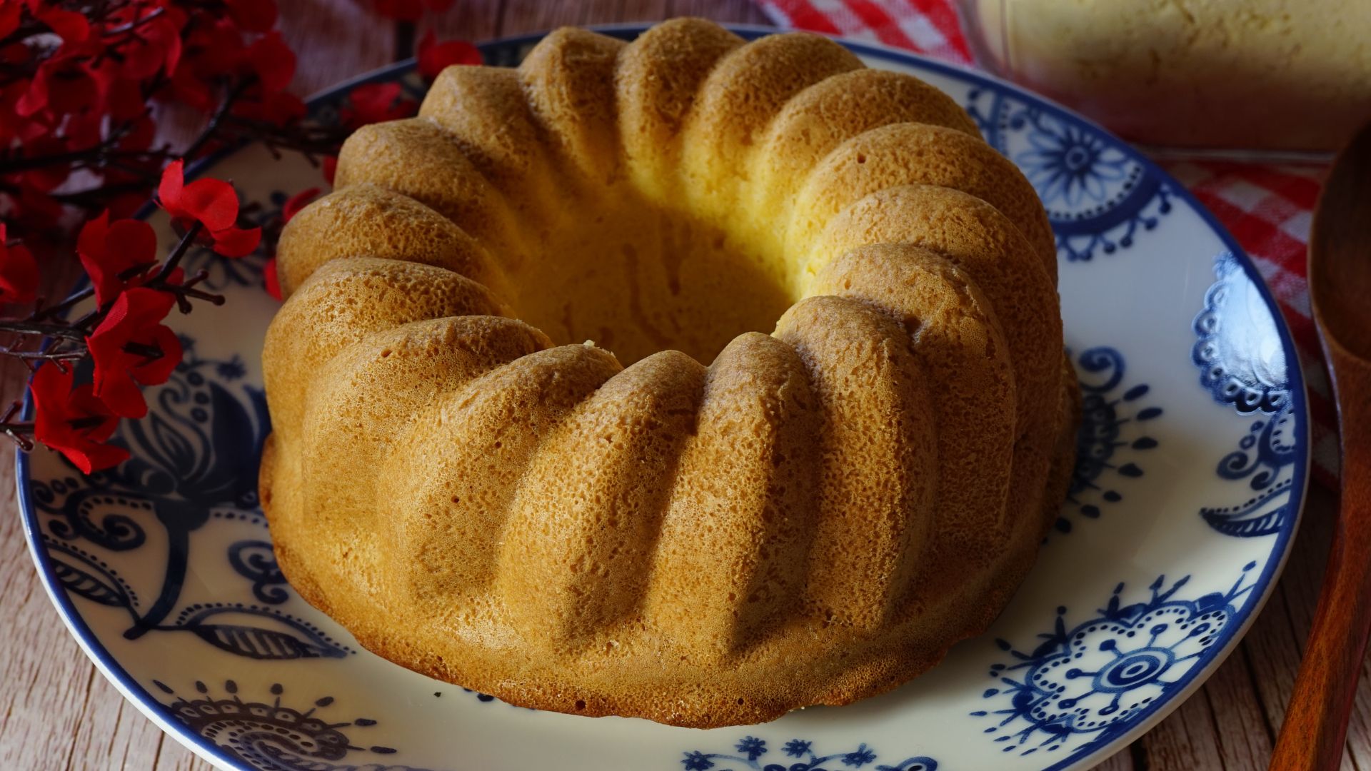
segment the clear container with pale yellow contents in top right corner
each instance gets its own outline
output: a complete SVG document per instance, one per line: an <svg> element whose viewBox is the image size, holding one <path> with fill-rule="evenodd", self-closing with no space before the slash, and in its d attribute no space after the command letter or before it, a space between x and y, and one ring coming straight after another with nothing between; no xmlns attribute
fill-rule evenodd
<svg viewBox="0 0 1371 771"><path fill-rule="evenodd" d="M1334 150L1371 121L1371 0L960 0L986 70L1157 145Z"/></svg>

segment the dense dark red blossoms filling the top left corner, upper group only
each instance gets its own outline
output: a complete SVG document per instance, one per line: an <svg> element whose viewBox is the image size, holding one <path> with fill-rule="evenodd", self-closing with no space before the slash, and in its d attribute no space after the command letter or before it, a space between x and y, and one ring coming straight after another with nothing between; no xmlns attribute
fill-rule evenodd
<svg viewBox="0 0 1371 771"><path fill-rule="evenodd" d="M403 19L448 5L377 1ZM0 0L0 218L12 235L60 233L71 207L126 217L175 156L254 139L324 159L348 129L413 114L385 84L358 89L345 125L308 123L276 22L276 0ZM429 33L420 60L433 77L478 54ZM185 148L154 145L155 106L169 103L206 115Z"/></svg>

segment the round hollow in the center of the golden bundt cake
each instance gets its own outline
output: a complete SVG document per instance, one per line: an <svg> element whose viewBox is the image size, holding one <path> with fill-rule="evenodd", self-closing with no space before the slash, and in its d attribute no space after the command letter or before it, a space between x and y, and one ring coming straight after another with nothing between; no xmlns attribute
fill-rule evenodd
<svg viewBox="0 0 1371 771"><path fill-rule="evenodd" d="M511 278L520 318L625 366L664 350L709 364L743 332L771 333L792 302L773 255L636 200L568 215Z"/></svg>

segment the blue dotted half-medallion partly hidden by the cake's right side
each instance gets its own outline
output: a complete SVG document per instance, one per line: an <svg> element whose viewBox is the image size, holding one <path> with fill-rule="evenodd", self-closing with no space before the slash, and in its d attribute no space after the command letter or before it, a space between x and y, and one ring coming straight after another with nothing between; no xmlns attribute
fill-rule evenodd
<svg viewBox="0 0 1371 771"><path fill-rule="evenodd" d="M1057 516L1058 532L1071 532L1071 513L1100 519L1105 506L1123 501L1111 477L1142 476L1141 455L1157 447L1145 424L1161 417L1161 407L1149 405L1146 383L1124 386L1124 357L1116 348L1089 348L1076 357L1080 429L1071 488Z"/></svg>

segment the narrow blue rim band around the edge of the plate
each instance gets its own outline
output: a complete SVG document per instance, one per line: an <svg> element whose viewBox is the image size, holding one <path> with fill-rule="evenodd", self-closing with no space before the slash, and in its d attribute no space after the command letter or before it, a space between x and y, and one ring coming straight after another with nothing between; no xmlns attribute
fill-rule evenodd
<svg viewBox="0 0 1371 771"><path fill-rule="evenodd" d="M651 27L650 22L625 22L625 23L609 23L609 25L585 25L585 29L613 34L622 37L635 37L642 32ZM721 25L725 29L747 38L754 40L766 34L775 34L777 32L795 32L783 27L771 27L764 25ZM478 44L481 54L489 56L494 51L503 51L509 48L518 48L522 45L531 45L546 37L551 30L526 33L510 37L502 37L491 41ZM888 45L882 45L877 43L856 41L843 38L840 36L827 36L832 37L847 49L857 55L871 55L876 58L891 59L897 62L903 62L913 64L916 67L927 69L945 74L954 78L962 78L972 81L980 86L988 86L993 89L1001 89L1012 93L1016 99L1035 103L1038 106L1046 107L1049 111L1054 112L1056 117L1063 118L1068 122L1079 123L1093 132L1102 133L1108 137L1115 137L1109 130L1104 129L1094 121L1078 114L1076 111L1064 107L1045 96L1039 96L1034 92L1024 89L1023 86L1015 85L1009 81L990 75L980 70L975 70L961 64L953 64L947 62L939 62L919 54L913 54L901 48L893 48ZM311 107L339 99L345 92L356 88L359 85L366 85L372 82L381 82L396 80L399 75L407 74L415 69L415 60L404 59L387 64L384 67L363 73L355 78L341 81L330 88L318 91L306 100ZM1105 759L1123 746L1137 741L1138 737L1150 731L1157 723L1165 719L1171 712L1178 709L1190 696L1194 694L1213 672L1223 664L1223 661L1237 649L1238 642L1246 635L1252 623L1261 613L1267 601L1275 589L1275 582L1285 569L1286 560L1290 557L1290 543L1294 535L1300 530L1300 523L1304 520L1304 506L1308 498L1308 484L1309 484L1309 462L1311 462L1311 449L1309 449L1309 412L1308 412L1308 398L1305 390L1304 372L1300 365L1300 355L1294 347L1294 340L1290 335L1290 325L1281 310L1279 303L1271 295L1271 288L1267 285L1265 280L1261 277L1252 258L1248 252L1238 244L1238 241L1228 233L1217 218L1206 207L1204 207L1183 185L1180 185L1171 174L1163 170L1156 162L1148 158L1141 151L1132 148L1123 140L1117 140L1126 147L1128 147L1134 159L1137 159L1149 173L1157 176L1160 180L1171 185L1175 196L1185 203L1187 203L1204 221L1204 224L1223 241L1224 248L1227 248L1237 258L1238 263L1242 266L1243 273L1252 283L1257 287L1263 302L1272 311L1274 318L1278 321L1276 332L1281 337L1281 347L1285 354L1286 369L1290 377L1290 392L1294 399L1291 413L1298 417L1297 434L1300 442L1297 443L1296 454L1297 460L1294 464L1294 484L1291 486L1293 502L1296 503L1296 516L1287 528L1276 534L1276 542L1272 547L1272 556L1275 558L1267 560L1263 565L1261 575L1257 576L1253 584L1254 600L1248 605L1248 610L1242 617L1242 621L1235 626L1230 626L1224 630L1224 638L1220 645L1212 646L1200 659L1198 665L1193 669L1194 674L1189 675L1185 686L1176 690L1169 698L1164 701L1157 701L1149 705L1146 709L1141 711L1139 719L1135 726L1117 739L1109 742L1102 748L1090 749L1089 746L1082 748L1072 753L1071 756L1058 760L1057 763L1043 768L1043 771L1058 771L1069 768L1078 761L1086 760L1087 757ZM241 143L233 147L219 150L195 163L186 169L186 177L197 177L203 174L211 166L222 162L229 155L239 152L248 143ZM145 218L154 211L154 204L148 203L138 210L136 217ZM82 281L84 283L84 281ZM81 283L78 283L78 287ZM25 420L32 418L33 402L27 388L23 395L23 409L22 416ZM85 623L82 615L77 610L70 595L62 587L58 580L56 572L52 568L51 560L47 556L47 549L43 546L40 521L37 517L37 509L30 498L32 493L29 490L29 455L26 453L15 454L15 491L19 502L19 513L23 520L25 539L29 545L29 554L33 558L34 567L38 572L38 578L43 582L44 590L48 593L48 598L52 601L62 617L64 626L71 631L71 635L77 639L81 650L88 659L100 669L100 674L106 676L121 694L133 702L140 712L148 716L159 728L174 737L182 745L192 749L196 755L200 755L206 760L223 767L223 768L241 768L243 771L254 771L250 767L240 766L236 759L229 756L218 745L207 741L204 737L185 730L185 726L175 722L174 715L170 713L167 707L159 701L147 687L140 685L133 675L119 665L118 660L110 654L110 652L99 642L95 632Z"/></svg>

